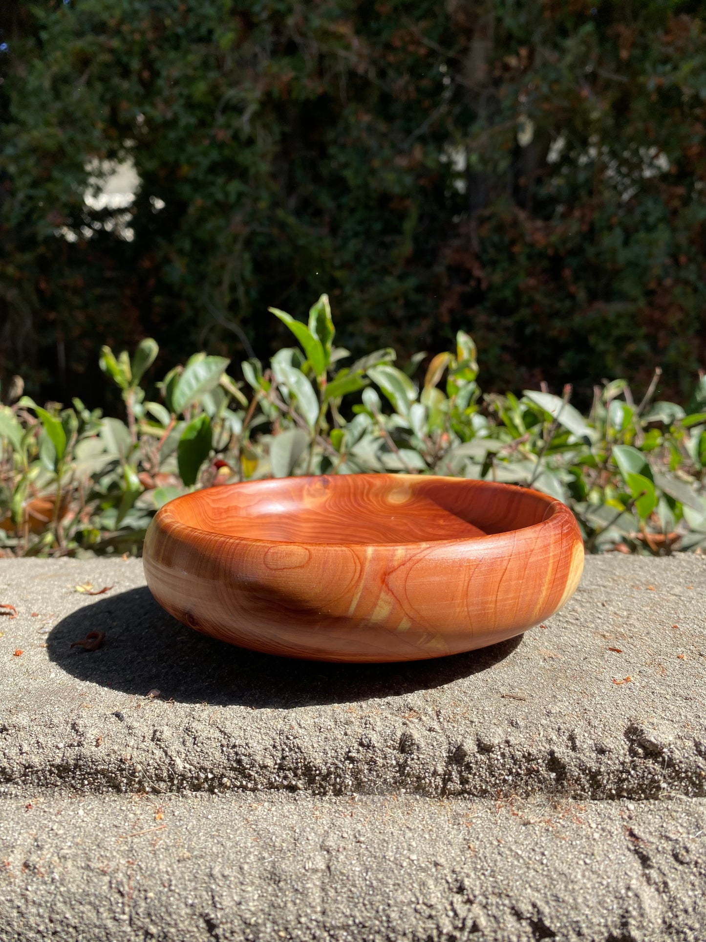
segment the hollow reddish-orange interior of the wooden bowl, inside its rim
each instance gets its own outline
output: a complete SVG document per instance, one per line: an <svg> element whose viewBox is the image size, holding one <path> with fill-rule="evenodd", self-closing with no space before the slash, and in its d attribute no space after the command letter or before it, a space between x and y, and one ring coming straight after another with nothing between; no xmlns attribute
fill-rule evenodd
<svg viewBox="0 0 706 942"><path fill-rule="evenodd" d="M187 526L281 543L407 544L531 527L553 501L485 481L410 475L285 478L217 487L169 505Z"/></svg>

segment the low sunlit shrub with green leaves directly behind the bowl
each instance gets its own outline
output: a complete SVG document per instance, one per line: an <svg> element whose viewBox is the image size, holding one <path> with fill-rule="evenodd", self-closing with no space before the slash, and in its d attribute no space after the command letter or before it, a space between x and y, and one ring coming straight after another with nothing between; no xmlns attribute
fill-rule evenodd
<svg viewBox="0 0 706 942"><path fill-rule="evenodd" d="M505 481L569 504L592 551L655 554L706 545L706 379L687 414L635 404L624 380L594 390L590 414L540 390L483 396L473 339L400 368L393 349L350 360L333 343L329 298L308 323L270 309L297 345L268 366L196 353L157 383L140 384L158 349L132 357L104 347L126 421L21 397L0 407L0 536L17 555L139 550L153 513L210 485L306 474L406 472ZM247 392L246 392L247 390Z"/></svg>

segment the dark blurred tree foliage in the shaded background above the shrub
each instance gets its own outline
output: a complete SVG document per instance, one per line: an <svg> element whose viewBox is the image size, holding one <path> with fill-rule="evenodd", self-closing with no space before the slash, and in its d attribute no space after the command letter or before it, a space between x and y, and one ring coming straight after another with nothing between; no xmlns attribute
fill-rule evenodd
<svg viewBox="0 0 706 942"><path fill-rule="evenodd" d="M353 352L463 328L486 388L662 365L683 398L706 346L704 6L8 5L3 379L100 400L97 349L145 334L163 365L265 356L266 306L327 290ZM84 201L110 160L141 181L127 222Z"/></svg>

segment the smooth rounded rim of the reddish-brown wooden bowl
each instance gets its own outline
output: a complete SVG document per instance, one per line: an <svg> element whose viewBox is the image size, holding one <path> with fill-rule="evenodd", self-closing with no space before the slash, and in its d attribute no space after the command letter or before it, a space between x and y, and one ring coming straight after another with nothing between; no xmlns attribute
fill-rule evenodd
<svg viewBox="0 0 706 942"><path fill-rule="evenodd" d="M501 530L498 533L486 533L485 536L477 537L455 537L448 540L409 540L402 541L397 540L393 543L379 543L379 544L369 544L365 542L355 542L351 540L339 540L332 542L316 542L310 543L306 540L274 540L274 539L259 539L257 537L250 536L233 536L227 533L218 533L214 530L203 529L199 527L193 527L190 524L185 524L183 520L180 520L178 515L172 510L173 505L179 504L184 501L198 500L199 496L204 494L207 491L217 491L222 493L227 488L232 487L257 487L261 484L271 484L274 481L285 481L285 480L297 480L297 481L315 481L321 480L322 478L328 477L329 480L335 480L339 477L345 477L347 479L351 478L365 478L365 479L389 479L392 481L419 481L422 479L432 478L435 481L441 482L451 482L454 483L452 486L458 487L462 484L466 484L472 488L478 488L479 490L499 490L511 492L513 495L520 493L521 495L526 495L528 497L539 498L542 503L547 505L547 512L543 520L540 520L536 524L531 524L529 527L518 527L512 529ZM219 542L229 545L238 545L238 544L251 544L259 546L306 546L307 549L317 551L320 548L325 547L345 547L345 546L372 546L375 551L386 551L390 549L395 549L402 546L434 546L434 547L444 547L444 546L458 546L465 544L473 544L473 546L481 547L487 545L489 541L494 541L497 545L498 541L510 541L510 538L514 533L527 532L527 533L536 533L541 528L555 528L557 524L561 526L561 523L564 518L569 517L570 521L575 525L575 517L566 504L562 503L556 497L553 497L548 494L543 494L541 491L536 491L532 488L518 487L515 484L508 484L503 481L491 481L491 480L477 480L473 478L452 478L450 476L427 476L427 475L415 475L415 474L385 474L385 473L372 473L372 474L355 474L355 475L297 475L288 478L266 478L261 480L249 480L249 481L240 481L233 484L220 484L216 487L203 488L201 491L192 491L190 494L183 494L178 497L174 497L172 500L169 500L163 507L156 512L152 519L152 524L157 527L166 528L166 529L180 529L186 531L187 533L205 533L211 539L217 539ZM152 526L152 525L151 525Z"/></svg>

